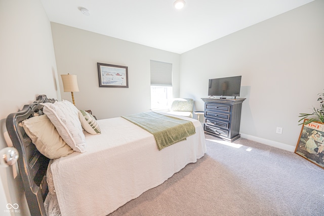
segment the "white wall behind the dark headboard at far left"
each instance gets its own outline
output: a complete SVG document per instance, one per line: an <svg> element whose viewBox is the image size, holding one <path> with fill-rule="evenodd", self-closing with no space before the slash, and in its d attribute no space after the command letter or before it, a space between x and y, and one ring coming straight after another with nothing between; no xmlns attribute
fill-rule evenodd
<svg viewBox="0 0 324 216"><path fill-rule="evenodd" d="M39 0L0 0L0 149L7 146L5 118L38 94L60 98L51 25ZM16 215L28 215L21 179L12 167L0 167L0 215L17 203Z"/></svg>

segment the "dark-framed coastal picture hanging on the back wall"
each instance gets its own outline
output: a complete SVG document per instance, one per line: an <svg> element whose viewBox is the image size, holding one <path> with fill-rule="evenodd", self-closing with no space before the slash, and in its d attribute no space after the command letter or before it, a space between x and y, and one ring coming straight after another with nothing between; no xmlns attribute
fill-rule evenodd
<svg viewBox="0 0 324 216"><path fill-rule="evenodd" d="M128 88L128 67L97 63L99 87Z"/></svg>

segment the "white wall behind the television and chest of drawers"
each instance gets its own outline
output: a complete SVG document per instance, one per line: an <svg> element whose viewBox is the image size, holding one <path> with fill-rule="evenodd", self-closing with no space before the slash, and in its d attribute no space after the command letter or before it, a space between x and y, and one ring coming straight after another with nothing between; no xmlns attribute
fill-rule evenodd
<svg viewBox="0 0 324 216"><path fill-rule="evenodd" d="M324 90L324 1L318 0L181 55L180 96L208 97L208 79L242 75L240 133L294 150L299 113ZM282 127L281 135L276 127Z"/></svg>

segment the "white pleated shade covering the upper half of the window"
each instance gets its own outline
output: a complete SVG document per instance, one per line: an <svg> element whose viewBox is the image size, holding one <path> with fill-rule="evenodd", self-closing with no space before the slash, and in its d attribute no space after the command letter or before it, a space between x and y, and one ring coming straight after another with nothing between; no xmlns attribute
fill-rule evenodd
<svg viewBox="0 0 324 216"><path fill-rule="evenodd" d="M172 86L172 64L150 60L151 85Z"/></svg>

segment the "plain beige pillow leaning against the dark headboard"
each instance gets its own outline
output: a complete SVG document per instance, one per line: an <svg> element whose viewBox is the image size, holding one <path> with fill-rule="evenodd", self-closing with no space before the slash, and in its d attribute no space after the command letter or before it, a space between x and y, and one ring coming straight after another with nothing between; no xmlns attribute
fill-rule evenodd
<svg viewBox="0 0 324 216"><path fill-rule="evenodd" d="M73 152L60 137L47 115L39 115L22 121L26 134L37 150L46 157L60 158Z"/></svg>

